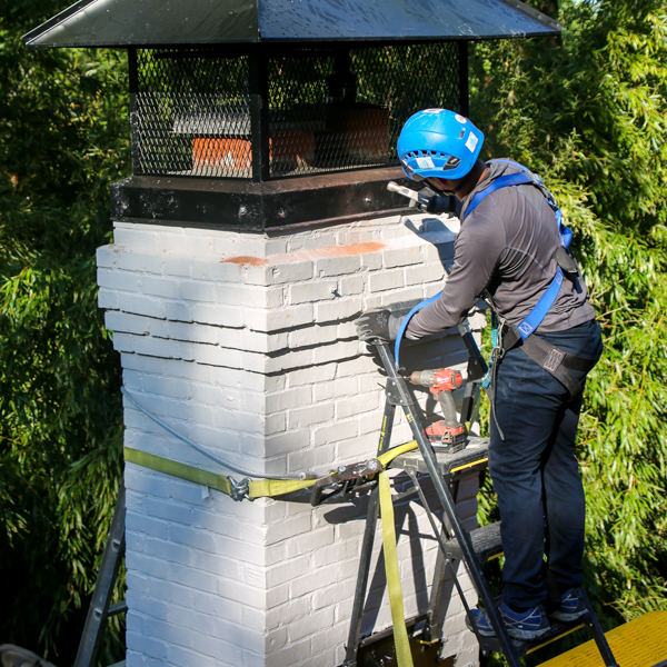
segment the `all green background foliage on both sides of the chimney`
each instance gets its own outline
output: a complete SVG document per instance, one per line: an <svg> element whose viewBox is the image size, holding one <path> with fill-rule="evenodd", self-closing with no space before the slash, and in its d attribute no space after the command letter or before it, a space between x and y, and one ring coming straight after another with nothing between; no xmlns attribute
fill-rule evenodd
<svg viewBox="0 0 667 667"><path fill-rule="evenodd" d="M20 34L62 7L0 4L0 641L69 664L121 466L94 249L129 171L127 68L27 52ZM471 117L486 157L558 196L604 328L579 447L589 591L610 625L667 607L666 0L565 0L560 19L561 39L474 47Z"/></svg>

